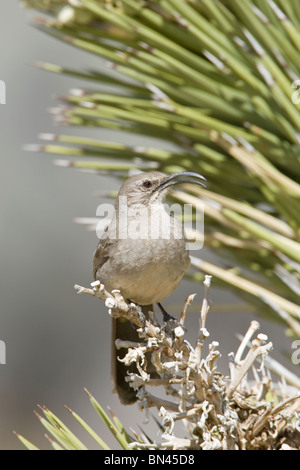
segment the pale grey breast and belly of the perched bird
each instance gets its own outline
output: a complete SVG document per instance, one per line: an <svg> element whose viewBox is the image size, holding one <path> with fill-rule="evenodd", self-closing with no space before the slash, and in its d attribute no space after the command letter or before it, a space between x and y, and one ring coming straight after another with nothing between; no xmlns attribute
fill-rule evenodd
<svg viewBox="0 0 300 470"><path fill-rule="evenodd" d="M176 289L190 264L182 224L162 207L151 217L118 223L121 230L110 258L109 278L104 269L103 282L140 305L162 301Z"/></svg>

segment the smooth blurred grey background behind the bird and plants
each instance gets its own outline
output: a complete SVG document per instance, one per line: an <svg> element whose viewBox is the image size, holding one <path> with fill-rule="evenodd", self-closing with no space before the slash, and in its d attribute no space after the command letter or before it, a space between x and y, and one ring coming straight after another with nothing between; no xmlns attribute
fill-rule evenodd
<svg viewBox="0 0 300 470"><path fill-rule="evenodd" d="M23 449L13 430L42 449L50 448L44 428L33 414L38 403L83 436L65 410L67 404L116 446L84 387L103 407L110 406L127 427L138 429L137 423L145 420L136 406L123 407L111 394L106 308L92 297L76 295L73 289L75 283L88 286L92 281L97 244L96 235L73 219L93 217L100 202L94 193L117 189L119 181L59 168L49 155L22 150L24 144L38 142L40 132L76 133L76 129L54 126L47 108L56 104L54 94L85 85L37 70L30 63L42 60L95 69L103 65L97 57L35 30L31 25L35 13L22 10L17 0L2 0L0 12L0 80L7 86L7 104L0 105L0 340L5 341L7 352L6 365L0 365L0 449ZM89 135L110 137L105 129L89 131ZM211 260L205 250L200 255ZM198 295L188 319L190 331L198 328L202 285L183 281L164 302L170 313L178 314L186 296L194 292ZM221 344L220 367L227 374L227 354L238 345L235 334L244 333L255 315L240 300L214 286L210 297L213 308L207 327L211 339ZM274 356L281 359L283 350L290 354L290 340L283 329L266 320L260 322L262 332L276 346ZM291 365L289 359L286 364ZM144 428L155 437L151 420Z"/></svg>

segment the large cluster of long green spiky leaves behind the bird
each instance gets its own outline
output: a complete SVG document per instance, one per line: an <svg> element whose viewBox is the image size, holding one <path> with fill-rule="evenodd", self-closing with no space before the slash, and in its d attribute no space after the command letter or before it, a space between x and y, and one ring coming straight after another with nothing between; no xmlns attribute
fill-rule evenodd
<svg viewBox="0 0 300 470"><path fill-rule="evenodd" d="M26 4L49 7L41 30L95 56L90 71L38 64L71 74L74 85L76 77L87 80L62 97L55 119L118 130L125 142L64 132L43 134L48 142L35 148L100 174L157 168L205 175L206 190L173 197L195 207L201 198L205 244L225 267L194 260L191 277L214 275L300 335L299 2ZM155 140L141 147L136 136Z"/></svg>

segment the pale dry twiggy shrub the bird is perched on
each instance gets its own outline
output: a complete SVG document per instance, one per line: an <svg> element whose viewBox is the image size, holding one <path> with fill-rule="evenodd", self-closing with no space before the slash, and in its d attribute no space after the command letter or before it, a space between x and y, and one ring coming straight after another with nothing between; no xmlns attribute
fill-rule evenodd
<svg viewBox="0 0 300 470"><path fill-rule="evenodd" d="M78 293L104 300L112 317L126 318L139 328L140 343L117 340L117 347L128 349L123 361L128 366L135 363L138 371L129 374L128 381L138 391L142 410L147 414L152 408L158 410L162 431L155 443L136 441L129 447L299 450L299 379L270 358L272 343L266 335L257 334L257 321L251 322L237 352L229 356L229 376L220 373L219 343L210 342L208 354L204 354L209 337L206 317L210 276L204 284L206 294L195 346L185 339L184 327L194 296L186 300L179 321L161 326L154 315L145 320L138 306L128 305L119 291L108 293L98 281L91 289L75 286ZM148 374L146 354L148 360L150 354L160 378ZM167 397L162 398L158 389ZM180 424L184 425L184 437L179 437Z"/></svg>

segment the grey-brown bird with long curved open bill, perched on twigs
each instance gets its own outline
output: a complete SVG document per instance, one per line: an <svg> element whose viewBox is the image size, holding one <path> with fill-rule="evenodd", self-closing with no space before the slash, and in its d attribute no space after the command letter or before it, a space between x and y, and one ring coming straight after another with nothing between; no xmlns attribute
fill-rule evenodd
<svg viewBox="0 0 300 470"><path fill-rule="evenodd" d="M193 172L167 176L154 171L131 176L119 191L112 220L94 253L94 278L109 292L120 290L124 299L142 307L146 317L154 303L160 306L176 289L190 265L182 222L166 211L166 194L173 185L203 186L203 180ZM125 381L130 368L118 360L117 338L139 338L132 323L113 320L112 389L122 403L130 404L136 401L136 392Z"/></svg>

